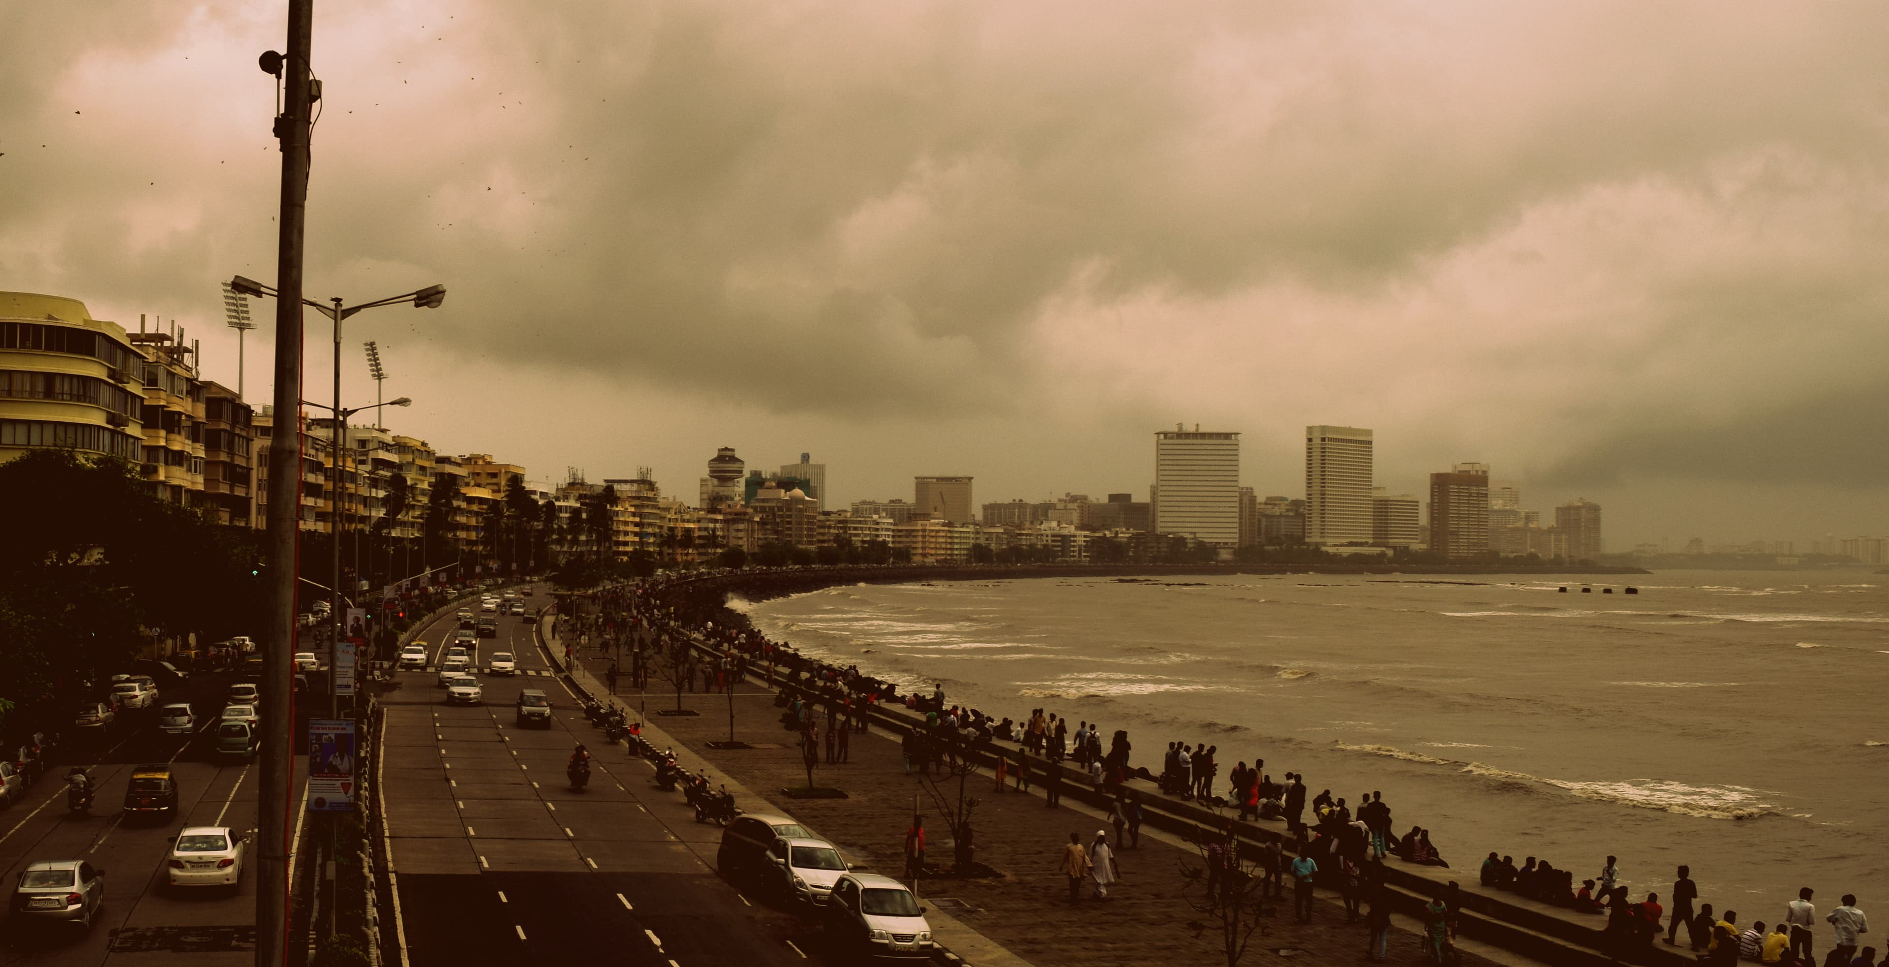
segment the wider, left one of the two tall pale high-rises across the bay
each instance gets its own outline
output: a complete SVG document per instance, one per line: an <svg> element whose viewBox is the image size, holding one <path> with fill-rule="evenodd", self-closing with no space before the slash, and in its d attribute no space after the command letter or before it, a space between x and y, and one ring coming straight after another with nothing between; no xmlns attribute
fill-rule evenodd
<svg viewBox="0 0 1889 967"><path fill-rule="evenodd" d="M1239 546L1239 434L1175 427L1154 434L1154 531Z"/></svg>

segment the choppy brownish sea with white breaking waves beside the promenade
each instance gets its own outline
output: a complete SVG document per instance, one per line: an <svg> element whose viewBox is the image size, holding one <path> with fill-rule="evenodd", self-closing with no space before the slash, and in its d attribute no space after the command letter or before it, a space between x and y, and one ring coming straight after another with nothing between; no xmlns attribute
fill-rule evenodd
<svg viewBox="0 0 1889 967"><path fill-rule="evenodd" d="M1625 593L1626 585L1638 593ZM1611 593L1608 593L1611 589ZM1218 746L1353 808L1383 791L1475 880L1549 859L1776 922L1889 918L1889 576L1026 578L733 601L803 653L1024 720ZM1073 731L1073 727L1071 727Z"/></svg>

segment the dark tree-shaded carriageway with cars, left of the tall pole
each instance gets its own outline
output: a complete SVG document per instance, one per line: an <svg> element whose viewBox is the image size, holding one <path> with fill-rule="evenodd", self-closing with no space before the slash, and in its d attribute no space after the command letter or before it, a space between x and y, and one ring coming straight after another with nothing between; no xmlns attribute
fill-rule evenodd
<svg viewBox="0 0 1889 967"><path fill-rule="evenodd" d="M161 701L189 701L200 727L223 710L234 672L198 672L166 687ZM172 891L166 859L185 825L229 825L238 835L255 829L257 769L247 759L215 755L213 731L164 735L155 710L121 716L104 737L68 738L53 765L26 795L0 812L0 874L11 891L26 863L85 859L104 869L106 905L89 933L43 929L45 924L8 916L0 931L0 963L87 965L117 961L138 967L251 963L255 937L255 871L246 859L234 895L227 890ZM179 788L176 818L130 818L119 810L132 765L170 763ZM87 816L66 814L62 776L70 765L91 765L98 791ZM300 789L297 789L300 797Z"/></svg>

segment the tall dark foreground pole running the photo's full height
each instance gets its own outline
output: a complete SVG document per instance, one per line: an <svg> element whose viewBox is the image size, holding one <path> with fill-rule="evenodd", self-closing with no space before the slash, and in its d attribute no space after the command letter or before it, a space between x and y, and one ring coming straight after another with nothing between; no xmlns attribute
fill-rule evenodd
<svg viewBox="0 0 1889 967"><path fill-rule="evenodd" d="M295 652L295 538L302 508L302 242L308 223L310 43L314 0L289 0L289 55L263 55L263 70L287 70L281 142L281 232L276 246L276 433L268 442L268 625L263 629L263 774L257 799L261 873L255 890L255 965L289 963L289 829L295 825L295 714L289 655Z"/></svg>

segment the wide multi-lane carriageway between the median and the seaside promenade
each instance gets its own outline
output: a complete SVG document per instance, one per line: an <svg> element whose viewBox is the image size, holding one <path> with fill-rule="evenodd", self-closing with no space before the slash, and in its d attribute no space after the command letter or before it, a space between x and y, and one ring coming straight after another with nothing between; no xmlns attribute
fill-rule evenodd
<svg viewBox="0 0 1889 967"><path fill-rule="evenodd" d="M527 604L548 604L544 587ZM414 967L808 963L801 922L714 873L720 827L695 823L646 761L603 740L523 618L480 638L480 661L512 652L519 674L474 665L478 706L444 703L433 661L451 631L451 614L423 629L427 670L399 672L383 697L382 788ZM527 687L552 699L550 729L516 727ZM565 780L576 742L597 759L584 791Z"/></svg>

